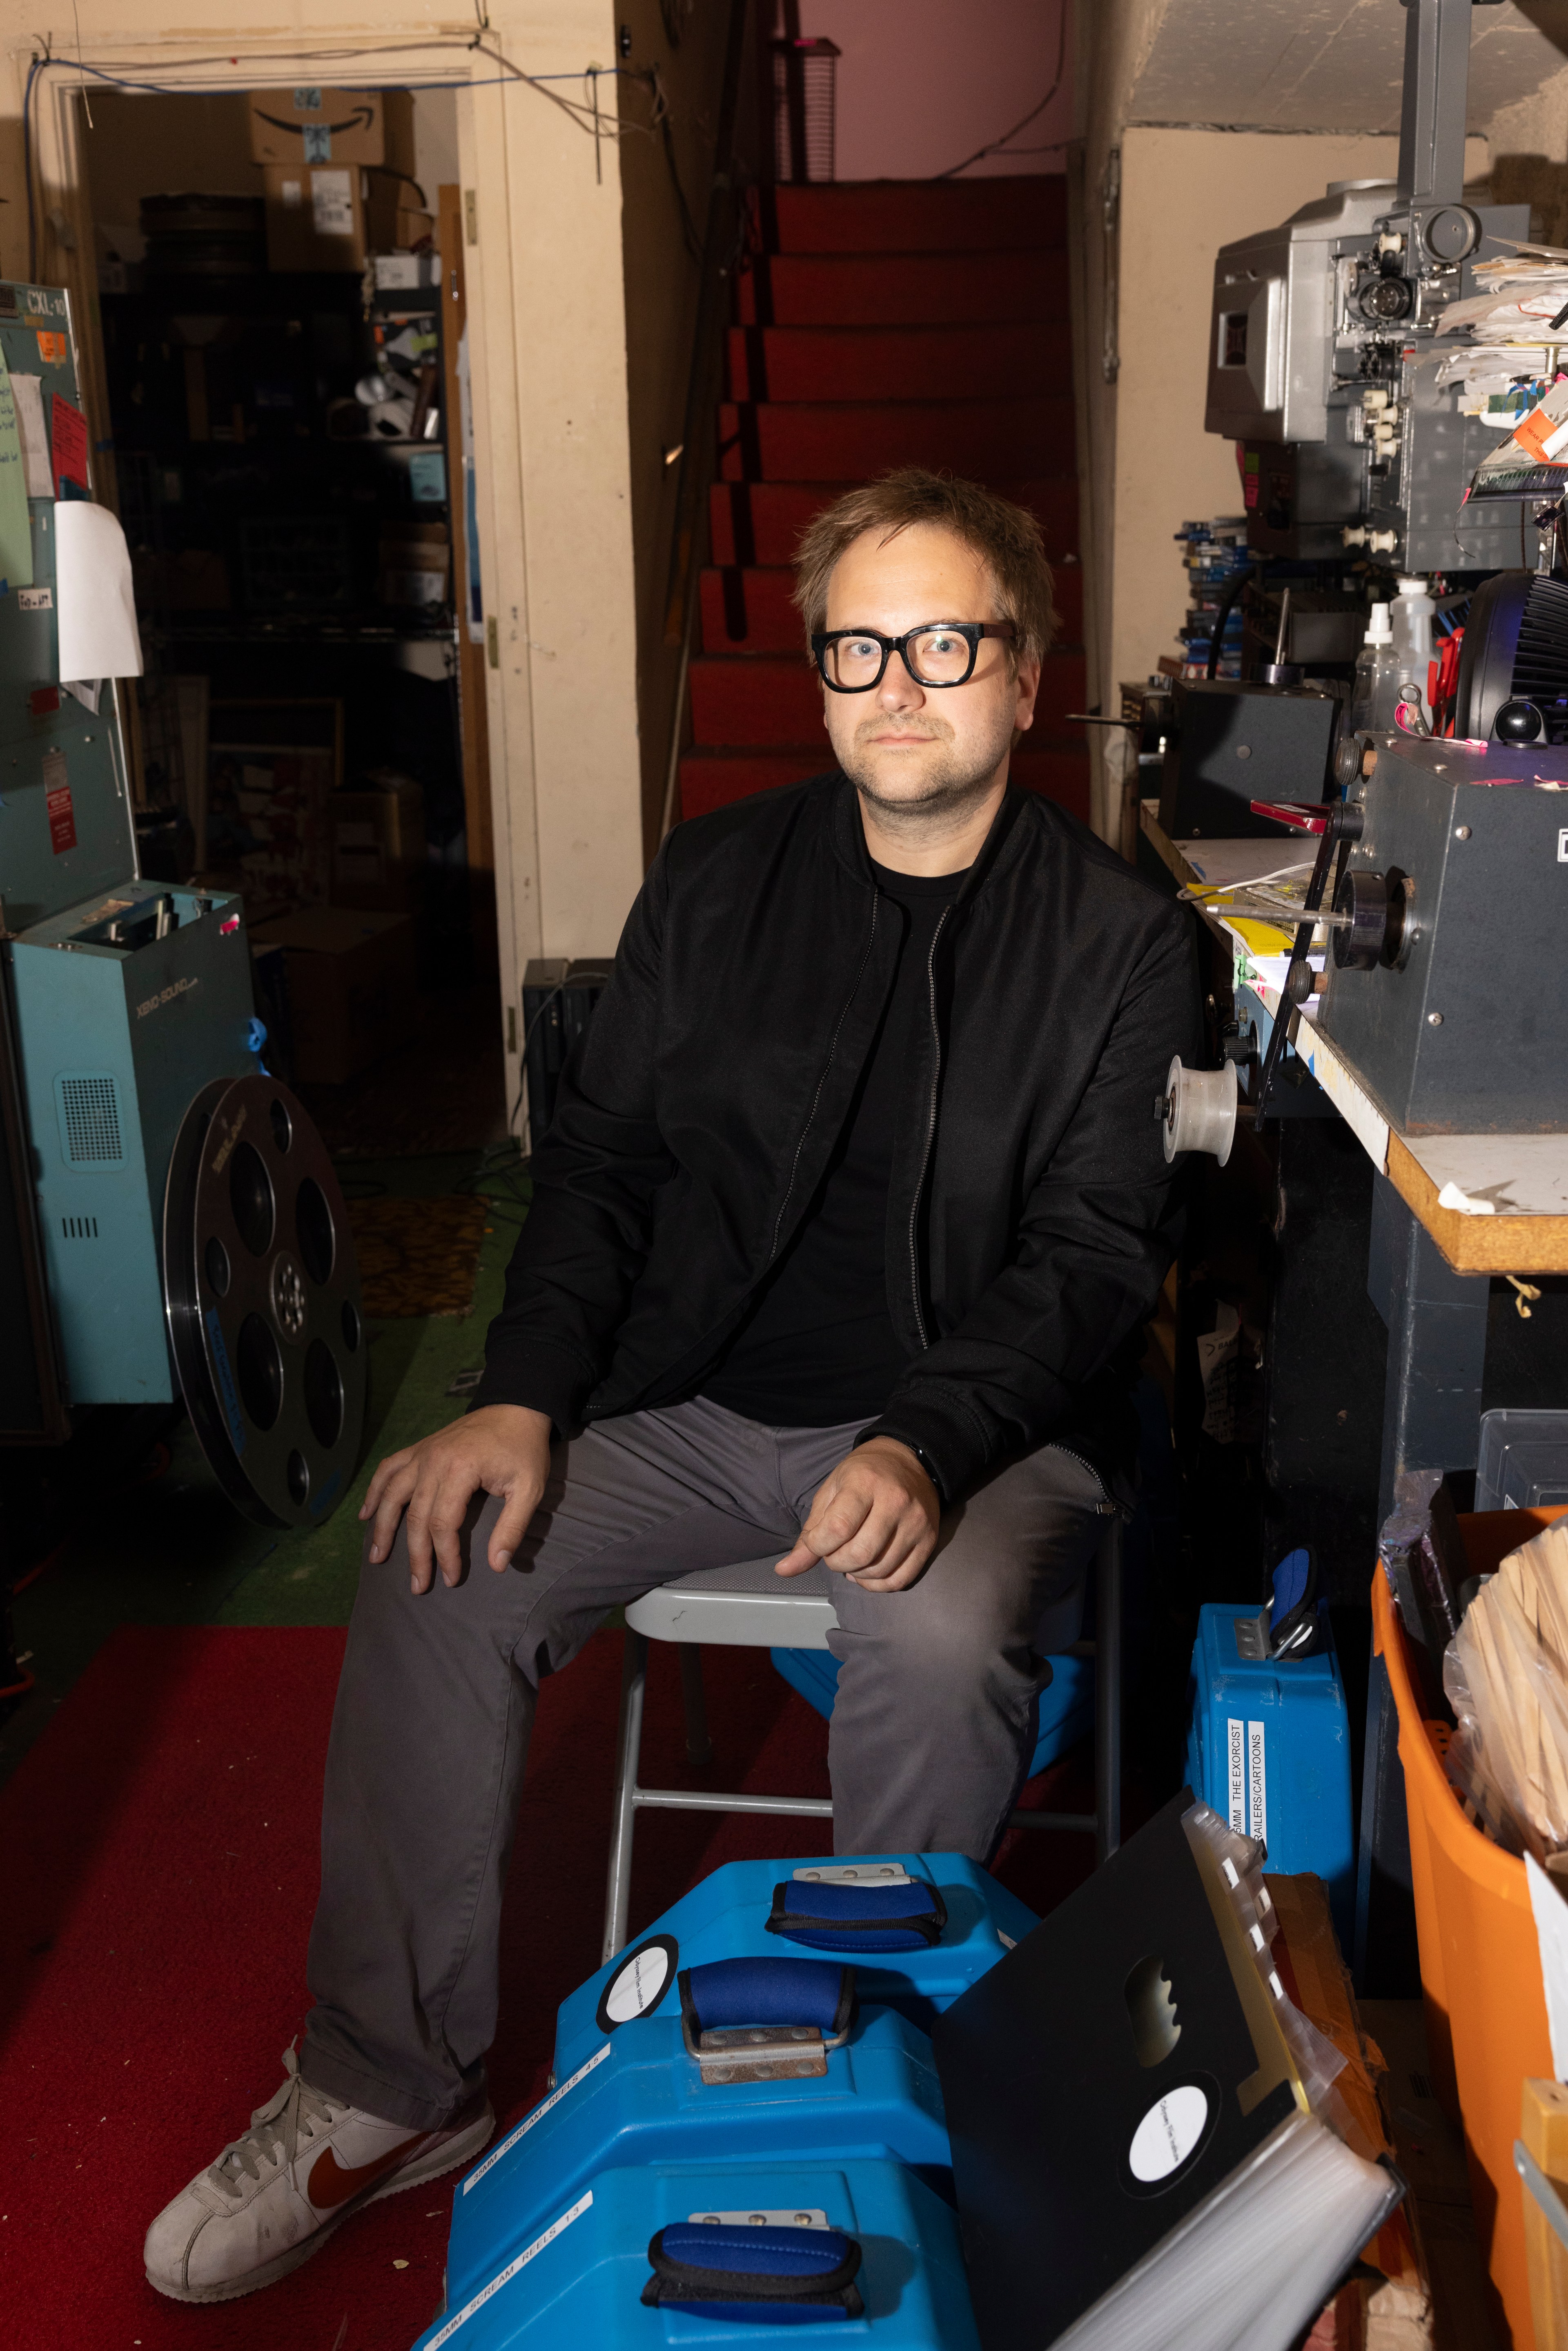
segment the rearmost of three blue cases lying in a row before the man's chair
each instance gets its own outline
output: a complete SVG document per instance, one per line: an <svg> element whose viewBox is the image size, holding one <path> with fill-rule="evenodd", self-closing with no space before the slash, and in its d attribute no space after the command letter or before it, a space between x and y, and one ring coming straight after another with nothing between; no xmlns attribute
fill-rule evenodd
<svg viewBox="0 0 1568 2351"><path fill-rule="evenodd" d="M842 1853L816 1860L726 1862L562 2001L555 2020L555 2081L567 2081L592 2057L604 2043L607 2024L656 2010L675 2015L679 2010L675 1977L682 1968L715 1958L785 1954L790 1944L769 1933L773 1888L804 1883L802 1871L846 1867L863 1869L867 1881L877 1869L891 1867L919 1886L933 1886L940 1895L947 1916L933 1944L917 1942L900 1951L856 1949L851 1942L842 1947L842 1956L856 1963L860 1998L898 2008L922 2029L1039 1925L1032 1909L961 1853L867 1853L856 1855L853 1864Z"/></svg>

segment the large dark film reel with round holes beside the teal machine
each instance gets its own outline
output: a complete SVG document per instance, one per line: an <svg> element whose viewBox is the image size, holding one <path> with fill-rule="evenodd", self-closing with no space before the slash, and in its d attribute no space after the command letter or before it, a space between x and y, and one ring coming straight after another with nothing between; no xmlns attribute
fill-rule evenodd
<svg viewBox="0 0 1568 2351"><path fill-rule="evenodd" d="M270 1077L193 1098L165 1192L165 1312L190 1425L259 1526L317 1526L364 1432L348 1211L310 1114Z"/></svg>

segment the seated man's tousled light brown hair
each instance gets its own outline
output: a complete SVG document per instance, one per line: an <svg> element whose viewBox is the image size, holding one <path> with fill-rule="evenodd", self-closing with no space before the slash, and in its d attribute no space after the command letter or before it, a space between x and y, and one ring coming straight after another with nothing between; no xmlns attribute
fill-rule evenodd
<svg viewBox="0 0 1568 2351"><path fill-rule="evenodd" d="M811 517L795 550L795 604L806 623L806 639L827 628L827 581L839 555L865 531L879 531L879 543L886 545L912 522L931 522L973 548L997 588L997 618L1018 630L1013 665L1039 661L1056 635L1051 564L1039 522L980 482L957 482L950 473L929 473L924 465L898 465ZM969 616L933 611L929 618Z"/></svg>

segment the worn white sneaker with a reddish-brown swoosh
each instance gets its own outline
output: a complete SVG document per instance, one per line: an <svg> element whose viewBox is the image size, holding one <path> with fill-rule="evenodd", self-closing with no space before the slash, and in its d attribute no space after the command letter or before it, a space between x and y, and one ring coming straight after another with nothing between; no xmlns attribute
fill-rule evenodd
<svg viewBox="0 0 1568 2351"><path fill-rule="evenodd" d="M287 2278L353 2212L470 2163L496 2116L407 2130L324 2097L284 2050L284 2085L252 2128L148 2229L148 2285L174 2302L233 2302Z"/></svg>

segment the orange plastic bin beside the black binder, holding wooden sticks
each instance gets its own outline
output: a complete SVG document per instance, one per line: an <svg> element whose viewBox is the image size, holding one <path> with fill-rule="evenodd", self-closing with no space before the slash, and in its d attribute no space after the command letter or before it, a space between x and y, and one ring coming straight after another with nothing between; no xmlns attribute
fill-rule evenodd
<svg viewBox="0 0 1568 2351"><path fill-rule="evenodd" d="M1462 1516L1472 1570L1495 1568L1556 1516L1556 1509ZM1497 2316L1516 2351L1533 2351L1514 2139L1523 2081L1552 2076L1552 2038L1530 1890L1523 1862L1481 1836L1448 1787L1420 1714L1406 1632L1382 1570L1373 1578L1373 1648L1387 1662L1399 1707L1432 2078L1439 2099L1465 2128L1476 2229L1502 2304Z"/></svg>

